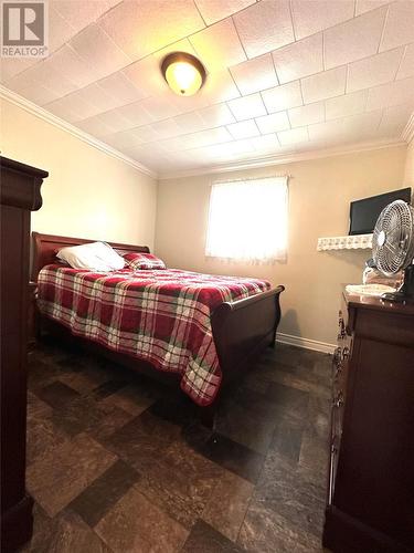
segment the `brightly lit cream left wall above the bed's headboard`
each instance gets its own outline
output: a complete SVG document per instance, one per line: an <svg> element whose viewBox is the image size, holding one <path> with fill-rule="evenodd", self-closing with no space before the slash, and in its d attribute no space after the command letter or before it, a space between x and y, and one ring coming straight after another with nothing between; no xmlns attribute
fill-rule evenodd
<svg viewBox="0 0 414 553"><path fill-rule="evenodd" d="M153 178L6 101L1 152L50 174L33 230L153 247Z"/></svg>

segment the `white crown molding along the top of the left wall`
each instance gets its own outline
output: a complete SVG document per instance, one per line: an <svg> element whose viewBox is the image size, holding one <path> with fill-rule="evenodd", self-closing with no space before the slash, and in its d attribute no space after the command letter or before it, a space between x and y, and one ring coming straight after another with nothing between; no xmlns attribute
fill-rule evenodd
<svg viewBox="0 0 414 553"><path fill-rule="evenodd" d="M67 123L66 121L61 119L60 117L56 117L52 113L47 112L43 107L40 107L33 102L30 102L29 100L24 98L23 96L20 96L20 94L17 94L13 91L10 91L6 86L0 85L0 97L11 102L14 105L18 105L19 107L25 109L26 112L31 113L32 115L35 115L36 117L40 117L41 119L45 121L46 123L50 123L51 125L54 125L55 127L66 131L66 133L70 133L71 135L75 136L76 138L79 138L81 140L85 142L89 146L93 146L94 148L103 152L104 154L107 154L108 156L115 157L116 159L120 159L121 161L132 166L135 169L138 169L140 173L144 175L148 175L150 177L157 178L157 174L146 167L145 165L140 164L136 159L132 159L129 156L126 156L121 152L118 152L117 149L113 148L108 144L105 144L94 136L85 133L81 128L75 127L74 125L71 125L71 123Z"/></svg>

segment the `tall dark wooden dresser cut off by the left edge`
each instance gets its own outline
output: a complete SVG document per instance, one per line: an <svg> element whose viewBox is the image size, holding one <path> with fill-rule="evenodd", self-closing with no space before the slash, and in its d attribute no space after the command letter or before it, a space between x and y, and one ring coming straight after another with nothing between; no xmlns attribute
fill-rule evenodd
<svg viewBox="0 0 414 553"><path fill-rule="evenodd" d="M32 533L25 492L26 343L30 212L47 173L0 157L1 169L1 551Z"/></svg>

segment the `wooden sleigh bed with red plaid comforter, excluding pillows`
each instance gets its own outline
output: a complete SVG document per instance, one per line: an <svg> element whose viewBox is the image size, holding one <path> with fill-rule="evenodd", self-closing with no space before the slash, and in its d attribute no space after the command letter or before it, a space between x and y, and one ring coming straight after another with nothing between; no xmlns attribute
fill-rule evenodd
<svg viewBox="0 0 414 553"><path fill-rule="evenodd" d="M162 382L178 382L205 420L231 383L275 343L284 286L174 269L77 271L59 264L56 252L92 240L32 236L40 327ZM108 243L121 255L149 253L145 246Z"/></svg>

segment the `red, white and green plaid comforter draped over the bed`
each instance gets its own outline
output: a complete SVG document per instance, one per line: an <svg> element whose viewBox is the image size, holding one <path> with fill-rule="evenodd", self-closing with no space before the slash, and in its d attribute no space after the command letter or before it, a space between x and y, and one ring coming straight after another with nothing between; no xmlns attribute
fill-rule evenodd
<svg viewBox="0 0 414 553"><path fill-rule="evenodd" d="M96 273L55 264L39 273L38 303L73 334L179 373L182 390L206 406L222 379L214 307L269 289L267 281L176 269Z"/></svg>

